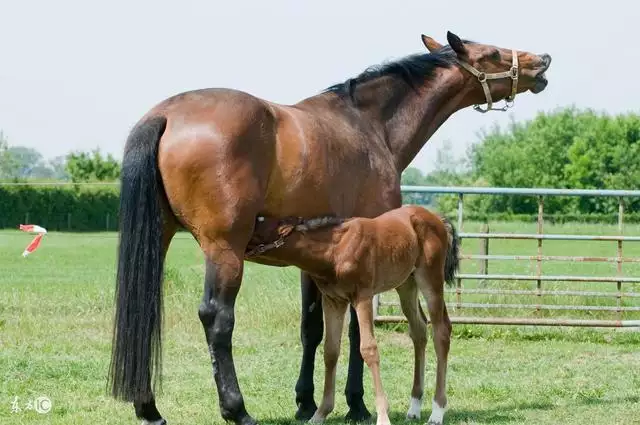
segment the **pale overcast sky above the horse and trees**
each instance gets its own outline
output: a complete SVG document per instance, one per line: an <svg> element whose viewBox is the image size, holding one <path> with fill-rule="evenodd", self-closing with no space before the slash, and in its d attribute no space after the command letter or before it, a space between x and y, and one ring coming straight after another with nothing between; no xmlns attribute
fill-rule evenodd
<svg viewBox="0 0 640 425"><path fill-rule="evenodd" d="M640 110L640 3L560 1L0 0L0 129L45 157L121 157L131 126L184 90L231 87L295 103L369 65L423 51L420 34L547 52L549 86L509 113L452 116L412 165L462 155L494 122L575 104Z"/></svg>

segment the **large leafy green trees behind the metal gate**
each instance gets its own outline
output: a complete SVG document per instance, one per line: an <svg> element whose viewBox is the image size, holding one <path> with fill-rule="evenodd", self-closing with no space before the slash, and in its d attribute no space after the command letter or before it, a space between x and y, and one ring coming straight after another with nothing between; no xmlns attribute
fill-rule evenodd
<svg viewBox="0 0 640 425"><path fill-rule="evenodd" d="M491 186L633 189L640 181L640 117L611 117L574 107L512 122L483 134L469 152L474 178ZM635 207L639 201L633 201ZM492 196L493 212L534 214L531 196ZM612 213L617 200L549 197L545 211L563 214Z"/></svg>

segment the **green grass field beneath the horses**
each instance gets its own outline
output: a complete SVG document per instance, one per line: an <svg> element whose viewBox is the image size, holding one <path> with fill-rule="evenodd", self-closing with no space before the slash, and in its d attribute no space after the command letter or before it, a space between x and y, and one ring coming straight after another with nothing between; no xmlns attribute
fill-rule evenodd
<svg viewBox="0 0 640 425"><path fill-rule="evenodd" d="M515 225L509 226L514 230ZM546 231L554 230L548 227ZM106 389L116 234L51 233L36 253L22 258L30 240L30 235L17 231L0 232L0 424L138 423L132 407L113 401ZM550 249L577 255L587 250L586 245L581 242L577 248L574 243ZM513 253L528 253L520 248L535 252L535 242L514 246L518 252ZM501 245L493 244L492 250L494 247ZM506 245L502 248L496 253L508 253ZM477 252L466 242L463 250ZM640 254L638 250L630 253ZM603 254L597 251L593 255ZM615 255L614 244L609 243L605 255ZM164 381L159 408L169 424L223 423L197 316L202 255L188 235L180 234L167 263ZM477 270L470 262L465 267ZM524 262L490 267L500 267L491 273L525 273L532 266ZM552 267L558 269L552 269L554 274L588 274L595 266ZM602 273L615 271L611 267L606 265ZM544 272L550 273L546 267ZM235 364L247 409L263 424L296 423L294 385L301 356L298 276L294 268L248 264L237 302ZM407 422L411 341L402 324L379 326L376 334L393 422L424 423L434 385L432 345L427 353L423 418ZM342 395L346 329L342 348L332 423L339 423L347 410ZM316 360L317 402L322 376L321 347ZM456 325L448 383L447 424L640 424L640 332ZM373 411L367 369L365 388L367 405ZM51 412L25 410L29 400L40 396L51 399ZM16 397L21 411L13 413Z"/></svg>

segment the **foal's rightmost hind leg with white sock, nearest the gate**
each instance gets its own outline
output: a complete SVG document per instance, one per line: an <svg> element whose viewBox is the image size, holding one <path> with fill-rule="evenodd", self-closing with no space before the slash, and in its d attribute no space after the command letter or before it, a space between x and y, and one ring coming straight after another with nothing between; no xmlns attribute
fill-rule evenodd
<svg viewBox="0 0 640 425"><path fill-rule="evenodd" d="M427 309L433 327L433 343L436 351L436 390L432 401L429 425L442 425L447 407L446 381L447 358L451 345L451 321L444 303L444 273L441 264L434 262L429 269L416 270L420 291L427 299Z"/></svg>

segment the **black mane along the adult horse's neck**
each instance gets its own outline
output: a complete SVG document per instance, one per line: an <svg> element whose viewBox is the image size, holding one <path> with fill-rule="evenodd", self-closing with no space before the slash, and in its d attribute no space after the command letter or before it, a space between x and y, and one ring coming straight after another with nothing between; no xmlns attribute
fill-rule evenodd
<svg viewBox="0 0 640 425"><path fill-rule="evenodd" d="M418 53L404 58L374 65L365 69L355 78L349 78L344 83L335 84L324 90L324 93L346 95L353 99L353 93L358 84L384 76L395 76L415 88L417 84L433 76L436 68L448 68L455 63L455 54L450 46L443 46L435 53Z"/></svg>

